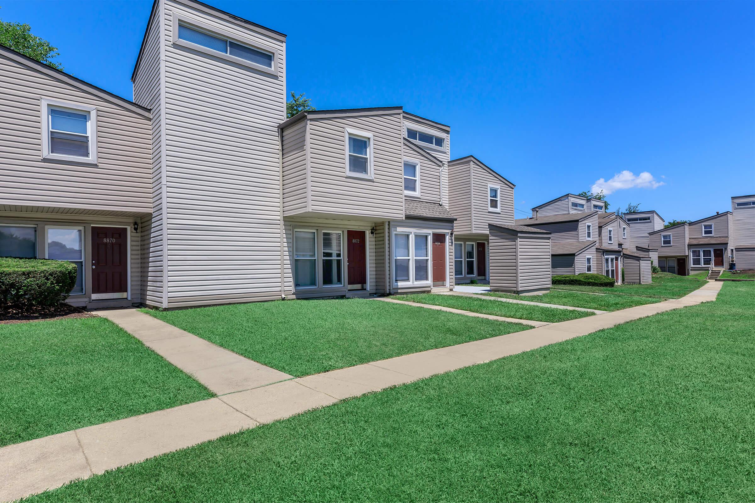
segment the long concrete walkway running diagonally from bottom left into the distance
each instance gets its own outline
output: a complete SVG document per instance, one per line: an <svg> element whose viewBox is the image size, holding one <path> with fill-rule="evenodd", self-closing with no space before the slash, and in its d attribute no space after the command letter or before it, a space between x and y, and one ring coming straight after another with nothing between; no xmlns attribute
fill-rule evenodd
<svg viewBox="0 0 755 503"><path fill-rule="evenodd" d="M344 398L573 339L626 321L716 299L710 281L678 300L639 305L80 428L0 449L0 501L11 501Z"/></svg>

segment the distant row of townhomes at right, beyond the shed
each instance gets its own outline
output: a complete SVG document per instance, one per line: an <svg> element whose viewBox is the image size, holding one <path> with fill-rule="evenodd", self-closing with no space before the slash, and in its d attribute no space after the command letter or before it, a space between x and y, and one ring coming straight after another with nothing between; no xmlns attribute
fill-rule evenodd
<svg viewBox="0 0 755 503"><path fill-rule="evenodd" d="M565 194L532 208L516 225L551 233L553 275L596 272L644 284L652 265L677 275L710 270L710 278L734 265L755 269L755 195L732 197L731 211L671 227L654 210L617 215L605 206Z"/></svg>

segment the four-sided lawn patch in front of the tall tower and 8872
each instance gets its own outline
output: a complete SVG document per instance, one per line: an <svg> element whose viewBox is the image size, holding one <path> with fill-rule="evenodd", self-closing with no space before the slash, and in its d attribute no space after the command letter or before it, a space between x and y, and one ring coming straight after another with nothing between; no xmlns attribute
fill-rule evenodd
<svg viewBox="0 0 755 503"><path fill-rule="evenodd" d="M144 312L292 376L531 328L369 299L280 300Z"/></svg>

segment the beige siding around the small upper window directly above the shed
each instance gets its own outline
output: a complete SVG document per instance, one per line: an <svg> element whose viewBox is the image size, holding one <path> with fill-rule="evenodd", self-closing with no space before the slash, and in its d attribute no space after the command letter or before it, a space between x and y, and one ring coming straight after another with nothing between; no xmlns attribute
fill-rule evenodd
<svg viewBox="0 0 755 503"><path fill-rule="evenodd" d="M488 186L499 187L498 207L501 212L488 210ZM488 233L488 224L512 225L514 222L514 189L498 176L472 161L472 232Z"/></svg>

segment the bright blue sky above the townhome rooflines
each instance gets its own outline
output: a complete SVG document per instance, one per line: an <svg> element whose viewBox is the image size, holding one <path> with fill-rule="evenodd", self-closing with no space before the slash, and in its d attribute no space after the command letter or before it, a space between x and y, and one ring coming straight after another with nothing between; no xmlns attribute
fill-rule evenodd
<svg viewBox="0 0 755 503"><path fill-rule="evenodd" d="M208 2L288 35L288 90L318 109L450 125L451 156L516 183L517 210L599 179L612 209L667 220L755 194L755 2ZM0 5L131 98L152 2Z"/></svg>

